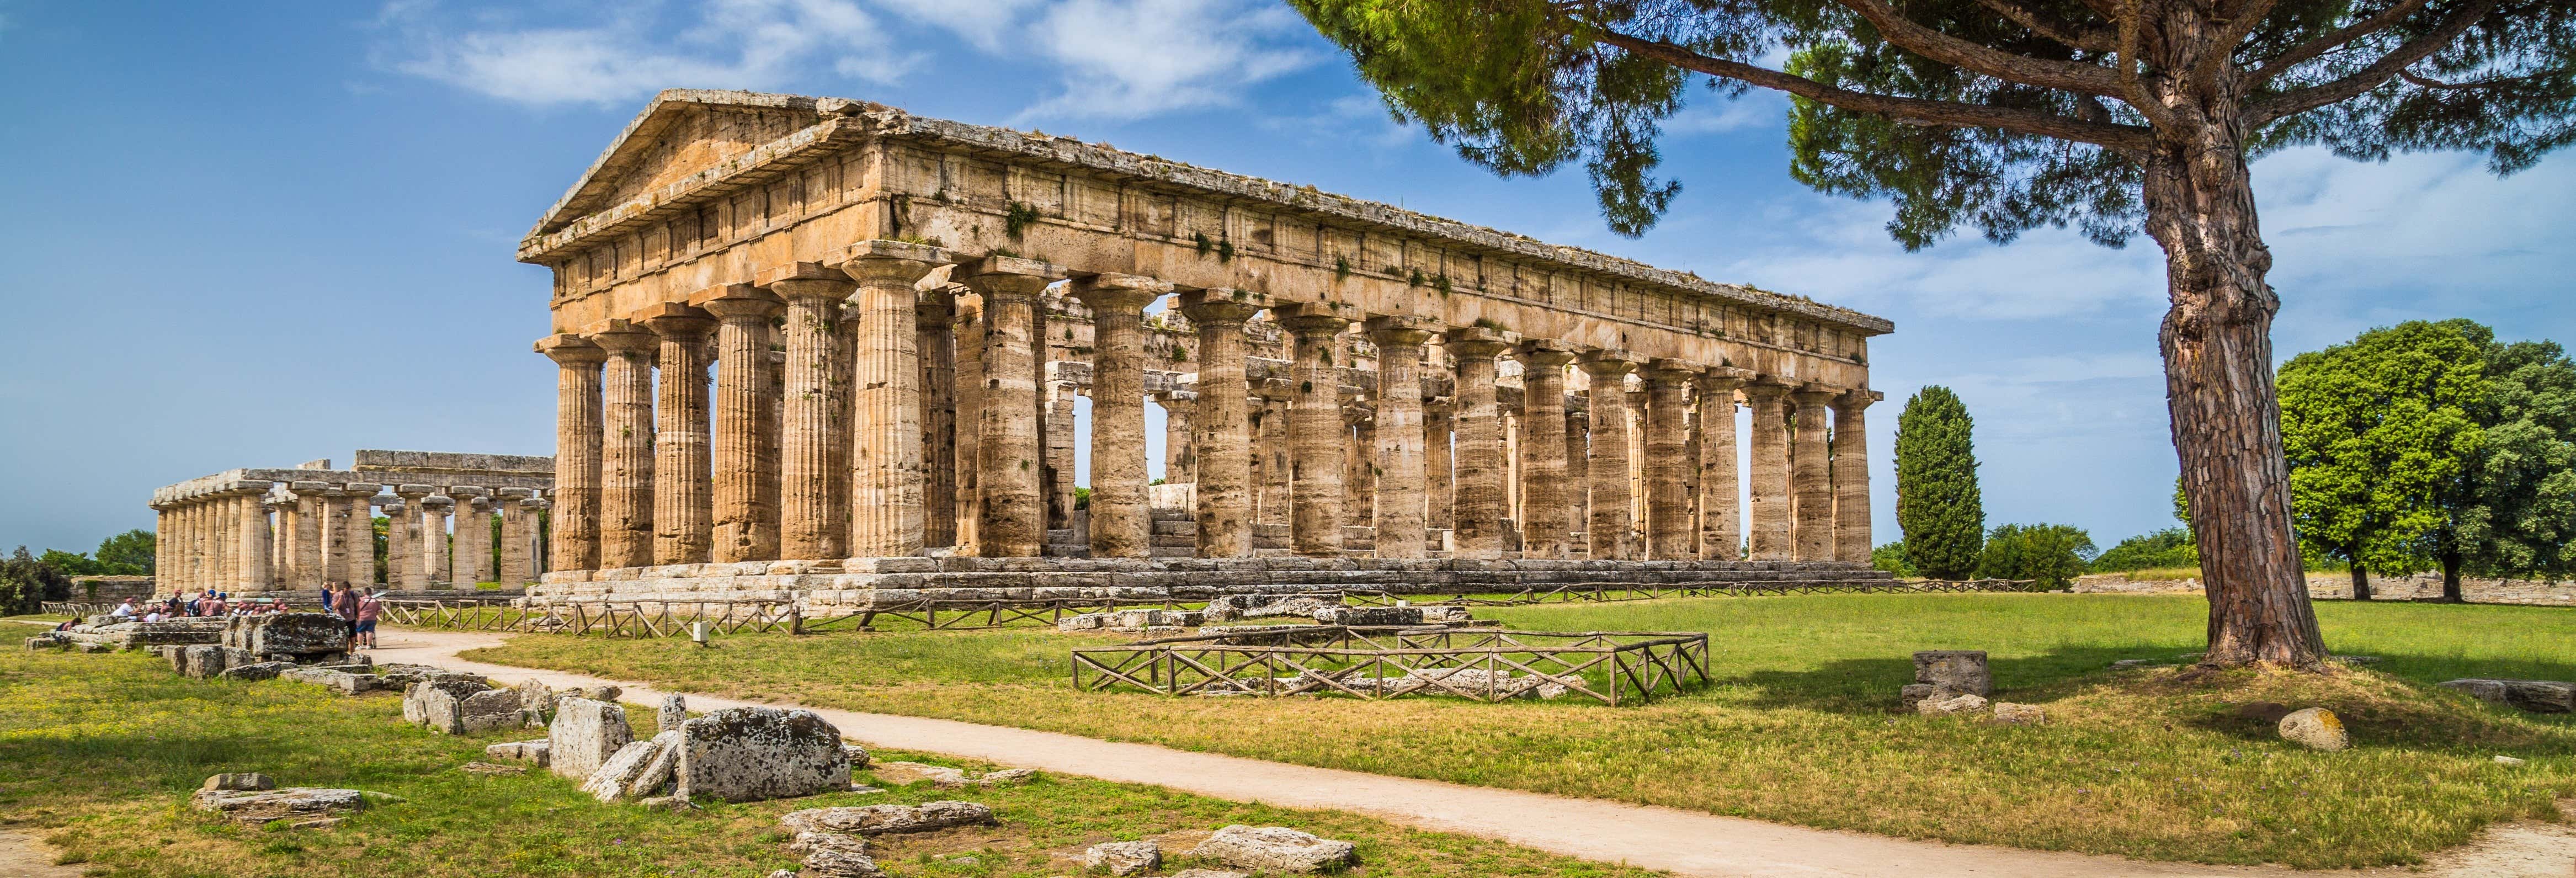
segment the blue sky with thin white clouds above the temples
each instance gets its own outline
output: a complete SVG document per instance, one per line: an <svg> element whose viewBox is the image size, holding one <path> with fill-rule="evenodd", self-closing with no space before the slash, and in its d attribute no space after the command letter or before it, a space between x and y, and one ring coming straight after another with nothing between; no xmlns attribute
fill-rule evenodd
<svg viewBox="0 0 2576 878"><path fill-rule="evenodd" d="M1986 515L2169 523L2154 247L1904 252L1785 175L1783 103L1705 95L1643 239L1579 173L1497 180L1257 0L0 0L0 548L90 548L160 484L350 448L549 453L546 273L513 245L659 88L868 98L1113 142L1857 306L1878 533L1906 394L1976 415ZM2416 317L2576 337L2576 162L2257 165L2282 358ZM1154 407L1149 407L1151 412ZM1159 440L1159 430L1151 430ZM1159 466L1159 463L1157 463Z"/></svg>

